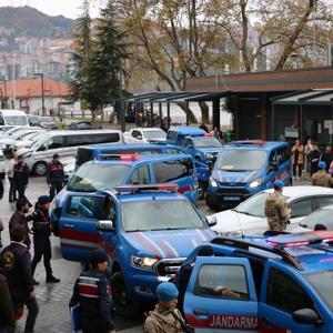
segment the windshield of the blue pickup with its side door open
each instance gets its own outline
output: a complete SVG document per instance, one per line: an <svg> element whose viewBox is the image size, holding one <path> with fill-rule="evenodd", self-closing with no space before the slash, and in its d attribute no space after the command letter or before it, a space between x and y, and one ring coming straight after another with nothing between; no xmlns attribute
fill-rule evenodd
<svg viewBox="0 0 333 333"><path fill-rule="evenodd" d="M204 223L185 200L130 201L121 205L124 231L203 229Z"/></svg>

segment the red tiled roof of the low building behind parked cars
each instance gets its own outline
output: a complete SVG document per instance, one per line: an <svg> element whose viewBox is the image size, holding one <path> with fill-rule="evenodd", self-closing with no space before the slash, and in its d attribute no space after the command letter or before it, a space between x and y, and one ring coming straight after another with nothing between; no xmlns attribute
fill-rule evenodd
<svg viewBox="0 0 333 333"><path fill-rule="evenodd" d="M14 83L14 91L18 99L22 98L39 98L42 95L41 78L22 79L7 81L7 97L12 97L12 89ZM0 82L0 94L4 95L4 82ZM44 78L44 95L46 97L68 97L70 95L70 88L68 84Z"/></svg>

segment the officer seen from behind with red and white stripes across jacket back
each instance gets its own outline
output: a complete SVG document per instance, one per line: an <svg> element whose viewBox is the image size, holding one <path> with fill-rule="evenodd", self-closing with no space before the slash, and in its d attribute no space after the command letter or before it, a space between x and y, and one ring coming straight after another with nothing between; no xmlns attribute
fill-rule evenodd
<svg viewBox="0 0 333 333"><path fill-rule="evenodd" d="M80 304L83 333L114 331L111 286L105 278L108 255L104 251L90 253L91 270L78 278L70 306Z"/></svg>

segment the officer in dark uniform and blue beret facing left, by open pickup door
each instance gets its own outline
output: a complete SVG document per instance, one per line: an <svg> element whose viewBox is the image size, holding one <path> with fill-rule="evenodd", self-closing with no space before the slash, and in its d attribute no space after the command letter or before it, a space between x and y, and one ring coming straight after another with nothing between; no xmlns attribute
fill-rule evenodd
<svg viewBox="0 0 333 333"><path fill-rule="evenodd" d="M48 195L41 195L38 198L38 203L34 212L32 213L33 221L33 249L34 255L31 262L31 273L34 274L37 264L41 261L42 256L44 259L44 268L47 271L47 283L58 283L59 279L54 278L51 269L51 224L50 224L50 198ZM39 284L33 279L33 284Z"/></svg>

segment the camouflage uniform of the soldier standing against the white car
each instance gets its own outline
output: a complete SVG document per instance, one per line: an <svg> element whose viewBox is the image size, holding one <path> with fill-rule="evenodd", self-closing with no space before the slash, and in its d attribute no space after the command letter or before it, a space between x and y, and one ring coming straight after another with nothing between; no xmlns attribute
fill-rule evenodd
<svg viewBox="0 0 333 333"><path fill-rule="evenodd" d="M274 192L269 195L265 203L265 215L271 231L284 231L291 216L291 209L284 196Z"/></svg>

